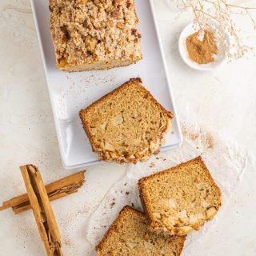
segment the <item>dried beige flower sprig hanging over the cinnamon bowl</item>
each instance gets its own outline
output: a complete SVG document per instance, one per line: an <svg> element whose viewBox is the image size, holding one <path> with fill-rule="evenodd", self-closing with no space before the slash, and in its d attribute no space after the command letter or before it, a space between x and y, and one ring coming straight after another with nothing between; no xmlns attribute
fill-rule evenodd
<svg viewBox="0 0 256 256"><path fill-rule="evenodd" d="M175 0L173 0L175 2ZM223 53L231 58L242 58L252 48L242 42L238 26L234 23L234 14L243 14L250 18L256 30L256 6L238 6L228 0L182 0L179 5L190 8L194 14L194 26L201 30L214 30Z"/></svg>

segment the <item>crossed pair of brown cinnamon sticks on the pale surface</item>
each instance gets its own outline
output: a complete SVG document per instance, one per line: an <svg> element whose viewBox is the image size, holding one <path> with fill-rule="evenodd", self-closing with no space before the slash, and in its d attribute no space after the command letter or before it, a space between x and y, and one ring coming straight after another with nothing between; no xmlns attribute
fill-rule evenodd
<svg viewBox="0 0 256 256"><path fill-rule="evenodd" d="M27 194L3 202L1 210L12 208L15 214L32 209L39 234L48 256L62 256L61 236L50 201L78 191L85 182L85 171L44 185L38 168L34 165L21 166Z"/></svg>

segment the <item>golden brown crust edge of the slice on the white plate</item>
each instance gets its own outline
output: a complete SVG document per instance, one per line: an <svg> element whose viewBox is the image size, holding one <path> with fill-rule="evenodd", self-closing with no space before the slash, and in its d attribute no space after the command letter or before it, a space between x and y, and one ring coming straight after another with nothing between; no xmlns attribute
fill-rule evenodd
<svg viewBox="0 0 256 256"><path fill-rule="evenodd" d="M124 84L122 84L122 86L119 86L117 89L111 91L109 94L106 94L105 96L103 96L102 98L99 98L96 102L92 103L90 106L88 106L85 110L80 110L79 112L79 116L82 120L82 125L83 125L83 128L86 132L86 135L87 137L89 138L90 140L90 145L92 146L92 150L94 152L98 152L98 146L95 144L94 142L94 137L93 137L93 134L90 133L90 125L88 122L86 122L86 114L90 113L90 110L94 110L99 104L101 104L102 102L105 102L107 101L110 97L112 96L115 96L119 93L122 92L122 90L126 90L126 87L130 86L131 84L133 83L136 83L136 86L139 87L139 90L141 90L143 93L146 94L146 98L148 98L151 102L154 103L154 105L158 106L162 112L164 114L166 114L166 116L168 118L173 118L174 115L172 114L171 111L167 111L159 102L157 102L157 100L150 94L150 91L149 90L146 90L145 87L142 86L142 79L141 78L130 78L130 80L128 82L125 82ZM156 146L159 145L162 145L162 140L167 132L167 130L170 129L170 123L166 123L165 126L162 127L162 134L159 134L159 138L157 138L157 142L156 142ZM154 154L158 154L158 148L157 150L155 151L151 151L151 153L154 153ZM142 156L141 158L136 158L136 157L122 157L122 156L115 156L115 159L113 159L113 153L111 153L111 157L110 158L107 158L106 157L107 155L107 152L104 154L104 152L102 153L99 153L99 159L100 160L106 160L106 161L116 161L116 162L119 162L119 163L122 163L122 162L133 162L133 163L136 163L138 160L142 161L142 160L146 160L147 158L150 157L150 152L148 152L148 154L146 154L145 156ZM145 158L145 159L144 159Z"/></svg>

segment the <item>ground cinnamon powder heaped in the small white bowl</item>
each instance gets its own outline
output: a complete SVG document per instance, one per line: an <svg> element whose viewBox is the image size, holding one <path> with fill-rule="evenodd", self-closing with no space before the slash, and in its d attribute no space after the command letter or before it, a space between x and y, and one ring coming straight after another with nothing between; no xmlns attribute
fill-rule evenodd
<svg viewBox="0 0 256 256"><path fill-rule="evenodd" d="M210 30L199 30L191 34L186 38L186 50L189 58L198 64L214 62L214 54L218 54L214 33Z"/></svg>

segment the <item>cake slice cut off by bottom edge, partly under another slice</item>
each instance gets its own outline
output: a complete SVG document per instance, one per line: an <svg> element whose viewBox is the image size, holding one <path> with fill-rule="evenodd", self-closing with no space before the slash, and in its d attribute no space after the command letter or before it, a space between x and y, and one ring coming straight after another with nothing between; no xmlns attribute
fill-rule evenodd
<svg viewBox="0 0 256 256"><path fill-rule="evenodd" d="M146 216L125 206L95 250L99 256L179 256L185 237L166 238L150 231Z"/></svg>

